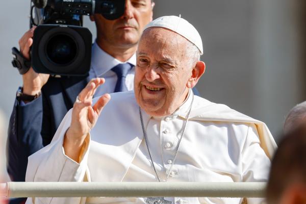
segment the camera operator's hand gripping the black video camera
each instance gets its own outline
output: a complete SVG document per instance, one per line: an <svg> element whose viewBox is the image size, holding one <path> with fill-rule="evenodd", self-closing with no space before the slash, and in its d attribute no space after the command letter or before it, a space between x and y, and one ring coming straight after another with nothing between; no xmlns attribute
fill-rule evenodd
<svg viewBox="0 0 306 204"><path fill-rule="evenodd" d="M33 27L20 38L19 49L20 53L30 59L30 47L33 44L33 34L36 27ZM36 73L31 67L27 73L22 74L23 93L28 95L35 95L41 91L43 85L47 83L49 74Z"/></svg>

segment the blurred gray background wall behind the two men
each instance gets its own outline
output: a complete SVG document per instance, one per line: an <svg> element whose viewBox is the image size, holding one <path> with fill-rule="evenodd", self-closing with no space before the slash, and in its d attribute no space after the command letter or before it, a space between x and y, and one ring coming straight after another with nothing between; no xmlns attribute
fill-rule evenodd
<svg viewBox="0 0 306 204"><path fill-rule="evenodd" d="M155 0L154 17L179 15L203 40L206 73L197 85L203 97L264 121L276 141L289 110L306 99L305 1ZM30 0L1 1L0 109L13 107L21 75L11 65L11 47L29 28ZM88 17L85 26L95 36ZM5 127L7 129L7 126Z"/></svg>

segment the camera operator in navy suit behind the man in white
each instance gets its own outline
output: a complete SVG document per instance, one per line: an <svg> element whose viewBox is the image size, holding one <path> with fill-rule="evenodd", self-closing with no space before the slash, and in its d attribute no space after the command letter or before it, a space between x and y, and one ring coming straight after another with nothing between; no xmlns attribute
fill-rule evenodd
<svg viewBox="0 0 306 204"><path fill-rule="evenodd" d="M153 7L152 0L126 0L124 14L116 20L100 14L90 16L96 24L97 38L87 77L58 78L36 73L32 67L22 75L23 86L18 89L8 130L7 168L12 181L24 181L28 157L50 143L75 98L91 79L106 79L96 96L133 90L135 52L144 26L152 20ZM27 59L34 30L19 40L20 53Z"/></svg>

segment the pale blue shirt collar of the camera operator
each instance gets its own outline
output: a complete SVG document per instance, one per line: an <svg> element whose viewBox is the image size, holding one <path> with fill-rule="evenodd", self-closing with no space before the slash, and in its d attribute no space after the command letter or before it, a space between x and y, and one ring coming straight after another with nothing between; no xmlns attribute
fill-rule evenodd
<svg viewBox="0 0 306 204"><path fill-rule="evenodd" d="M94 70L96 77L105 74L107 71L111 70L114 66L120 63L129 62L133 66L136 65L136 54L134 54L126 62L120 62L116 58L112 57L106 53L103 49L99 47L96 41L92 45L92 56L91 56L91 67Z"/></svg>

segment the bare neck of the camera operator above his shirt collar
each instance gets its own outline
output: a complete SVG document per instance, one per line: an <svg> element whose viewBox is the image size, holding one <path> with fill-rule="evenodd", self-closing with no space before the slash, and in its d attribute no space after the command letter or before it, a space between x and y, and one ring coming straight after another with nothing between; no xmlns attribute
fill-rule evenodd
<svg viewBox="0 0 306 204"><path fill-rule="evenodd" d="M104 39L97 38L97 45L104 50L107 54L116 58L120 62L129 60L137 50L137 44L129 45L114 45L105 41Z"/></svg>

